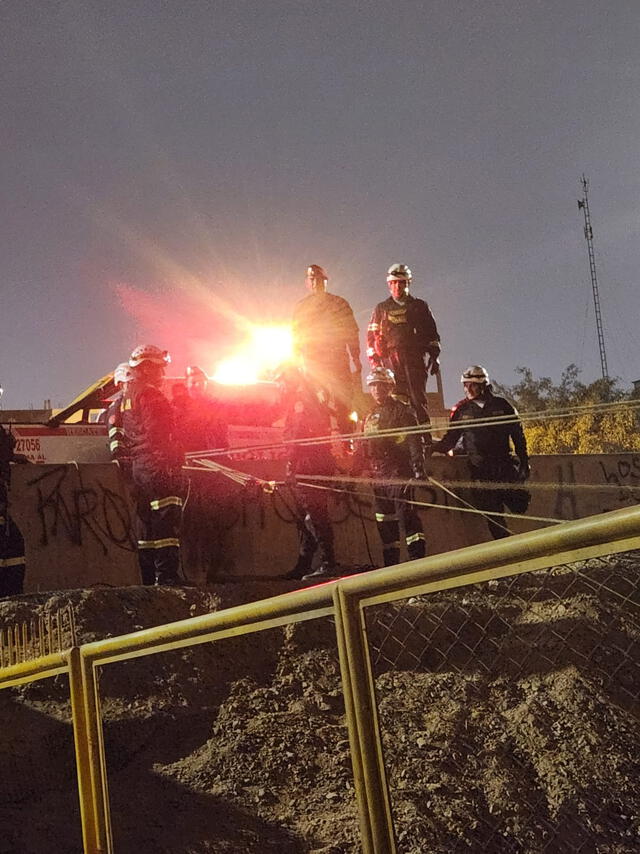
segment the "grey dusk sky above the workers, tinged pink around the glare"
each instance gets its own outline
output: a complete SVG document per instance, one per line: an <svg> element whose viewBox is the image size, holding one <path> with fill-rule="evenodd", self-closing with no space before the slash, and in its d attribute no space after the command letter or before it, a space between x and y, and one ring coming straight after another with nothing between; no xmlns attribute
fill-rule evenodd
<svg viewBox="0 0 640 854"><path fill-rule="evenodd" d="M363 334L411 267L449 404L477 362L590 382L583 172L609 371L640 378L638 0L3 0L0 48L6 408L147 341L211 372L310 263Z"/></svg>

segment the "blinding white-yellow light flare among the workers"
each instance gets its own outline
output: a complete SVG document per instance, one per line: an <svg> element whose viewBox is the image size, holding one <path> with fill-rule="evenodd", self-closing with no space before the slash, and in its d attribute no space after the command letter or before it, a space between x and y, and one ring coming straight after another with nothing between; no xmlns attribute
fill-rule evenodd
<svg viewBox="0 0 640 854"><path fill-rule="evenodd" d="M251 385L292 358L290 326L254 324L238 350L218 363L213 379L223 385Z"/></svg>

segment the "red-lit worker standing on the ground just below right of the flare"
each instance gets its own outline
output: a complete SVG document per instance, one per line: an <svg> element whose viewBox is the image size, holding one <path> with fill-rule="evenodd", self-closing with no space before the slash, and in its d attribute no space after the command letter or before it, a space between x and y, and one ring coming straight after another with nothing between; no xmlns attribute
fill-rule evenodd
<svg viewBox="0 0 640 854"><path fill-rule="evenodd" d="M284 438L309 439L328 436L331 432L330 410L323 399L322 390L297 370L291 369L281 377L285 388L287 415ZM336 566L333 529L329 519L329 492L297 482L304 475L331 476L336 472L336 461L331 445L291 445L287 459L287 481L291 484L296 502L298 526L298 560L285 575L288 579L322 579L340 574ZM319 484L324 486L325 484ZM318 553L320 563L312 570Z"/></svg>

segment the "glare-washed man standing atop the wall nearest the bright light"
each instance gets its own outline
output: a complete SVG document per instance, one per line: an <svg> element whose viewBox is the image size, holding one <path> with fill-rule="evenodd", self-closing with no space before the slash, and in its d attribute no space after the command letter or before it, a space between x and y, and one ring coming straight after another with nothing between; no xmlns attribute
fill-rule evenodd
<svg viewBox="0 0 640 854"><path fill-rule="evenodd" d="M310 293L293 310L294 352L314 387L327 392L340 433L351 433L354 388L361 391L358 324L347 300L327 291L322 267L307 267L306 280Z"/></svg>

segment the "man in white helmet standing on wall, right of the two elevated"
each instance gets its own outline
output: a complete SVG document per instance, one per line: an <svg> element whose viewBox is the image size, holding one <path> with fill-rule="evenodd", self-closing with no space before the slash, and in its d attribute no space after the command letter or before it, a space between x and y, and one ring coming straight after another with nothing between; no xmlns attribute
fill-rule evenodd
<svg viewBox="0 0 640 854"><path fill-rule="evenodd" d="M428 304L409 293L411 278L406 264L389 267L391 296L373 310L367 356L371 367L382 365L393 371L395 394L411 403L418 423L429 424L427 377L440 370L440 336Z"/></svg>

